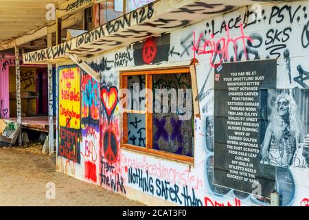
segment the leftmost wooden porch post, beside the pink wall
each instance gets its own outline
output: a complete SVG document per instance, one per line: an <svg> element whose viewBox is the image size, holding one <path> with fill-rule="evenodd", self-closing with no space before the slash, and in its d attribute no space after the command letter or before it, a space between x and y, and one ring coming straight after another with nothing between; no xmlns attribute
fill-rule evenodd
<svg viewBox="0 0 309 220"><path fill-rule="evenodd" d="M16 69L16 113L17 122L21 124L21 69L19 66L19 46L15 45L15 69ZM19 133L19 146L21 146L21 132Z"/></svg>

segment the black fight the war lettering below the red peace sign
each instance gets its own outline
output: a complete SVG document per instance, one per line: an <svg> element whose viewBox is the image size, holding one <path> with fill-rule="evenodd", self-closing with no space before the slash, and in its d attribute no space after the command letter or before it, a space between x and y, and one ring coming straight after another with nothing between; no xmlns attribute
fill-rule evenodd
<svg viewBox="0 0 309 220"><path fill-rule="evenodd" d="M126 194L124 188L124 178L114 171L114 166L101 158L102 170L101 170L101 185L111 188L114 192L122 192Z"/></svg>

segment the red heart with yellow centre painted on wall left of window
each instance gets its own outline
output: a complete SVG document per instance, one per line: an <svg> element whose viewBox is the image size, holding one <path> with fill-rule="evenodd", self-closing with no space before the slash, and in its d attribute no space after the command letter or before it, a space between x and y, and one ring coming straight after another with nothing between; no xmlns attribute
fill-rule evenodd
<svg viewBox="0 0 309 220"><path fill-rule="evenodd" d="M118 102L118 90L117 87L106 87L101 88L101 98L106 111L108 120L115 111L116 104Z"/></svg>

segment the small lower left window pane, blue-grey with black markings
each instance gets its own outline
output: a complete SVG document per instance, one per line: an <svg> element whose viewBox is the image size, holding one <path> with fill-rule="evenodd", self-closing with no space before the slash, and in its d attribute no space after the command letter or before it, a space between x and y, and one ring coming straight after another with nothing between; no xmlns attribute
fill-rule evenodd
<svg viewBox="0 0 309 220"><path fill-rule="evenodd" d="M145 114L128 113L128 144L146 146Z"/></svg>

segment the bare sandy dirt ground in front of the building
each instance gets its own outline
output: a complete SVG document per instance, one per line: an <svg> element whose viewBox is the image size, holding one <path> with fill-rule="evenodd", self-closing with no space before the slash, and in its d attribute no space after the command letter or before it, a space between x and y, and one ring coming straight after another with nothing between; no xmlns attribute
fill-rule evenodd
<svg viewBox="0 0 309 220"><path fill-rule="evenodd" d="M144 206L99 186L55 171L55 156L41 146L0 147L0 206ZM55 199L46 198L46 184L56 186Z"/></svg>

